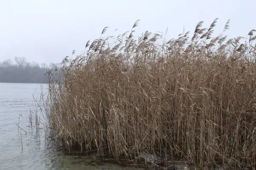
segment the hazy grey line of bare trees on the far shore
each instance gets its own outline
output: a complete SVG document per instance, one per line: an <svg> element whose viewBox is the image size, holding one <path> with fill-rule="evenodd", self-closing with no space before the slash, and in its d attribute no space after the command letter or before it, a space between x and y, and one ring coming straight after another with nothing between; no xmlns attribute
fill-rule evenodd
<svg viewBox="0 0 256 170"><path fill-rule="evenodd" d="M47 71L58 68L60 64L38 64L28 62L25 57L15 57L0 62L0 82L47 83Z"/></svg>

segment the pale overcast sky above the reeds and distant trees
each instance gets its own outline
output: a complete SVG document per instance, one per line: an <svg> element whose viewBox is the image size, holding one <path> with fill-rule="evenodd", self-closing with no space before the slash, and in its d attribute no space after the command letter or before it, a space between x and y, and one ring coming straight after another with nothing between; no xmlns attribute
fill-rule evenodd
<svg viewBox="0 0 256 170"><path fill-rule="evenodd" d="M219 18L215 33L230 19L230 37L247 36L256 29L255 0L0 0L0 61L26 57L39 63L61 62L88 40L130 31L165 32L170 38L192 34L198 22L208 28ZM191 35L190 34L190 35ZM190 36L191 37L191 36Z"/></svg>

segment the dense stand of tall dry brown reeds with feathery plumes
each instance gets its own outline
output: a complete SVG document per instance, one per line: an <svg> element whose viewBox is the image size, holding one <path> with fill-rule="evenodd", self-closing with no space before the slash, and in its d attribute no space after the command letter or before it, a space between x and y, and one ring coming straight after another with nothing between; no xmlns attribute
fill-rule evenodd
<svg viewBox="0 0 256 170"><path fill-rule="evenodd" d="M200 165L255 167L256 30L245 43L226 40L228 21L212 38L216 22L169 41L148 31L136 40L136 22L66 57L64 82L48 77L53 137L68 150L115 159L169 150Z"/></svg>

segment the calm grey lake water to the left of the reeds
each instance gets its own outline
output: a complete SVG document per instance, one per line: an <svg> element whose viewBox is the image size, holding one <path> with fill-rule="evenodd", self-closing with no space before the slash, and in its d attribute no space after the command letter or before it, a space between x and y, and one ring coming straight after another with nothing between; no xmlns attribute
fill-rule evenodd
<svg viewBox="0 0 256 170"><path fill-rule="evenodd" d="M47 148L44 131L39 136L35 129L31 133L29 123L29 113L35 108L33 96L40 97L41 89L47 91L46 88L45 84L0 83L0 170L137 169L107 163L92 165L85 158L65 156ZM18 130L16 124L23 130Z"/></svg>

